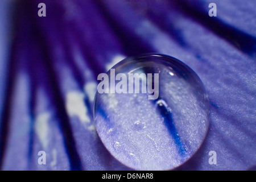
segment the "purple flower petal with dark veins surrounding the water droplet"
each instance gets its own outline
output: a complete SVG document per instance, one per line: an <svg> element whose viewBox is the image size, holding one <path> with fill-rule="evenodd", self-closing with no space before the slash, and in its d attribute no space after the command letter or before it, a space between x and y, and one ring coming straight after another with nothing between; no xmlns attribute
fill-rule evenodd
<svg viewBox="0 0 256 182"><path fill-rule="evenodd" d="M253 0L1 0L0 168L130 169L98 138L97 76L157 52L191 67L210 100L207 138L176 170L255 170L255 10Z"/></svg>

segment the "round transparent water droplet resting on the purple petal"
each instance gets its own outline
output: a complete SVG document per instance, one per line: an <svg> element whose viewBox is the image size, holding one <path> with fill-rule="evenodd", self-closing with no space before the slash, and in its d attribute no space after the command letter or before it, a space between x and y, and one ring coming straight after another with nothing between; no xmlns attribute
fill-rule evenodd
<svg viewBox="0 0 256 182"><path fill-rule="evenodd" d="M114 80L113 71L115 76L123 73L123 77ZM135 73L142 78L139 92ZM156 73L159 79L155 79ZM135 77L134 82L129 74ZM114 158L133 169L167 170L195 154L208 131L209 101L191 68L174 57L151 54L122 60L107 75L98 85L94 121L102 143ZM104 80L108 84L103 86ZM121 84L122 80L127 85ZM108 88L109 93L102 93L102 88ZM156 99L152 99L154 94Z"/></svg>

